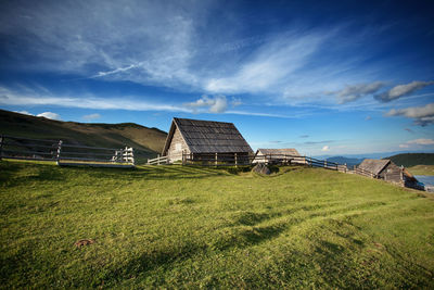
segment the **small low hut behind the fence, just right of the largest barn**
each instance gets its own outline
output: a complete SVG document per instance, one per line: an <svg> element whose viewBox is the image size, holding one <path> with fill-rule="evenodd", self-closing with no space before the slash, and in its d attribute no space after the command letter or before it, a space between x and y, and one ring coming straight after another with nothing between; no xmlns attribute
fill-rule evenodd
<svg viewBox="0 0 434 290"><path fill-rule="evenodd" d="M254 163L280 163L280 164L306 164L306 157L302 156L294 148L284 149L258 149Z"/></svg>

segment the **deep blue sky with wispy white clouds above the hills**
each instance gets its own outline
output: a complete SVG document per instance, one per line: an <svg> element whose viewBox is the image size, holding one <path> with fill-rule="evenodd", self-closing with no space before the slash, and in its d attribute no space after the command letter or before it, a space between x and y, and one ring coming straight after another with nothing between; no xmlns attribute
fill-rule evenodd
<svg viewBox="0 0 434 290"><path fill-rule="evenodd" d="M252 148L434 151L433 1L1 1L0 108L232 122Z"/></svg>

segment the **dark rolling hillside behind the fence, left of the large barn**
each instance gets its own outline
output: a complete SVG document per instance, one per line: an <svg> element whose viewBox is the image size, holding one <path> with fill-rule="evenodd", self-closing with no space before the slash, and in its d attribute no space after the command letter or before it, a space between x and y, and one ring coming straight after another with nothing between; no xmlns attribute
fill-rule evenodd
<svg viewBox="0 0 434 290"><path fill-rule="evenodd" d="M135 148L137 160L161 153L167 134L133 123L87 124L61 122L0 110L0 134L35 139L62 139L65 143L93 147Z"/></svg>

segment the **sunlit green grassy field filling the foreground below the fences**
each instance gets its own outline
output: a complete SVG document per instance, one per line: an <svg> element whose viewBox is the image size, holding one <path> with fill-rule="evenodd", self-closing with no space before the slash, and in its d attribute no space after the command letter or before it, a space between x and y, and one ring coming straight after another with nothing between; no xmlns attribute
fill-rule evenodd
<svg viewBox="0 0 434 290"><path fill-rule="evenodd" d="M0 173L1 288L434 288L434 200L384 181L302 167Z"/></svg>

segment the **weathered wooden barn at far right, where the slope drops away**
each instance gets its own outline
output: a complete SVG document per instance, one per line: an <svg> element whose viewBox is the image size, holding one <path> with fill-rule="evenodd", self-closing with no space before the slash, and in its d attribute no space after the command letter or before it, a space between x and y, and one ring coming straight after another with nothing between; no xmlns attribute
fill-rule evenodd
<svg viewBox="0 0 434 290"><path fill-rule="evenodd" d="M419 188L418 180L406 168L397 166L390 160L363 160L359 168L368 171L374 178L399 184L400 186Z"/></svg>

